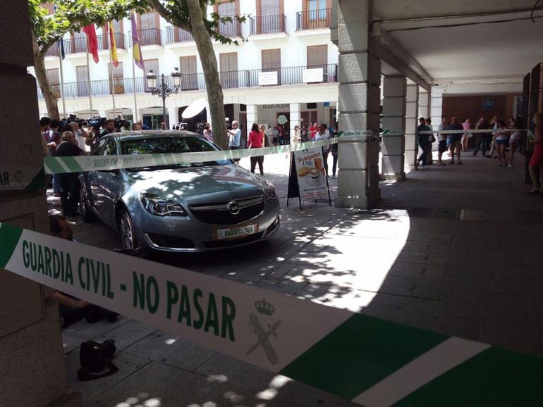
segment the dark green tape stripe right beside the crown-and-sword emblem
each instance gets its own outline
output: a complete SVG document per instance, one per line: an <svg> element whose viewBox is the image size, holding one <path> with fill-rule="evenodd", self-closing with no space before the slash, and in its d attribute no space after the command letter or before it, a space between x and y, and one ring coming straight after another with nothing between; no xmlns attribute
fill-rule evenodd
<svg viewBox="0 0 543 407"><path fill-rule="evenodd" d="M355 314L280 373L353 399L447 338Z"/></svg>

